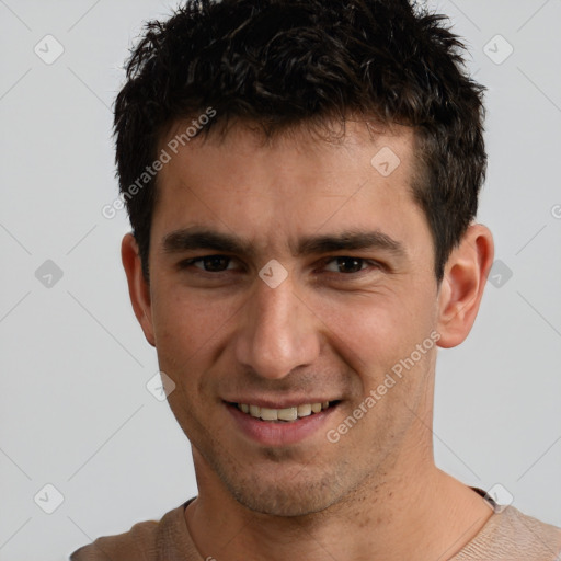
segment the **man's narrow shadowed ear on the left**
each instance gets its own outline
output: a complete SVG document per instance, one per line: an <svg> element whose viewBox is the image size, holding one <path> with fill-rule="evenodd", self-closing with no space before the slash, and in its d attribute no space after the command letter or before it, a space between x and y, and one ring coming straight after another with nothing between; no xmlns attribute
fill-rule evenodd
<svg viewBox="0 0 561 561"><path fill-rule="evenodd" d="M135 310L136 319L140 323L148 343L156 346L150 286L142 275L138 244L131 233L127 233L123 238L123 242L121 243L121 259L127 275L128 294L130 296L133 309Z"/></svg>

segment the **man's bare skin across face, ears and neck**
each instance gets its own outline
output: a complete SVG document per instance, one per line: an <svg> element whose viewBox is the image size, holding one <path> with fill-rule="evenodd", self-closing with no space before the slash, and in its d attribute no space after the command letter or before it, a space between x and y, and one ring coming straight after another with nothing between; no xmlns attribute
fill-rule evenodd
<svg viewBox="0 0 561 561"><path fill-rule="evenodd" d="M409 191L413 146L405 127L370 135L348 122L336 141L302 129L263 142L239 124L224 140L192 140L161 170L150 285L125 236L133 307L192 443L199 494L185 515L203 558L447 559L491 515L434 465L436 345L337 443L325 437L431 333L442 347L461 343L479 309L492 236L470 226L437 286L431 232ZM382 147L401 160L388 176L370 164ZM170 232L194 226L234 233L252 253L165 251ZM403 252L291 250L301 237L350 230L382 232ZM178 267L205 255L230 260ZM288 273L275 288L259 276L271 260ZM265 446L222 401L242 396L341 403L305 440Z"/></svg>

